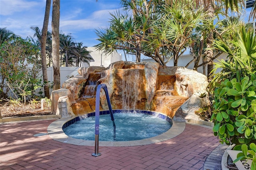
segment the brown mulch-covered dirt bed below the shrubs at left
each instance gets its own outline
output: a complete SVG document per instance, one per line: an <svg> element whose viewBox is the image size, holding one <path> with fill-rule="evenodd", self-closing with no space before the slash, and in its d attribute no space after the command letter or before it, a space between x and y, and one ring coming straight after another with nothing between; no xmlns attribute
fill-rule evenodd
<svg viewBox="0 0 256 170"><path fill-rule="evenodd" d="M41 104L8 104L0 103L0 112L2 118L4 117L25 117L25 116L37 116L37 115L51 115L51 108L45 107L41 110Z"/></svg>

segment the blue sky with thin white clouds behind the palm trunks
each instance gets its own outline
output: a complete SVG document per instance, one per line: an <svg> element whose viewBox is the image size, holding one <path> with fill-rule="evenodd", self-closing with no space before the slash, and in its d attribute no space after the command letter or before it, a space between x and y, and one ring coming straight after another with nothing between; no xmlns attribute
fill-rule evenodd
<svg viewBox="0 0 256 170"><path fill-rule="evenodd" d="M31 26L42 29L46 0L0 0L0 27L26 38ZM52 4L51 4L52 8ZM99 42L95 29L108 26L109 13L121 8L120 0L60 0L60 30L76 42L93 46ZM48 30L51 30L52 10Z"/></svg>

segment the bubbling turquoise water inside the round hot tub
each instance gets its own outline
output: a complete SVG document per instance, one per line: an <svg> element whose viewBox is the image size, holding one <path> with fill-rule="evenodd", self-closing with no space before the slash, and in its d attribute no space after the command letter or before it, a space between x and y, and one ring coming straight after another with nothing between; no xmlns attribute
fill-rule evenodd
<svg viewBox="0 0 256 170"><path fill-rule="evenodd" d="M100 115L100 141L141 140L162 134L171 124L157 116L143 113L114 113L116 138L110 115ZM64 128L66 135L83 140L95 140L95 117L88 117Z"/></svg>

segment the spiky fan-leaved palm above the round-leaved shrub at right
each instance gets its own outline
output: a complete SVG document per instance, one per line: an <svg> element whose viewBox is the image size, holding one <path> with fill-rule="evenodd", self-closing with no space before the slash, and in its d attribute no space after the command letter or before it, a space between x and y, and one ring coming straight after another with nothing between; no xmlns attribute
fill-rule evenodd
<svg viewBox="0 0 256 170"><path fill-rule="evenodd" d="M239 31L235 31L230 40L220 39L214 42L214 48L226 53L227 59L218 60L214 63L214 78L210 87L218 87L218 83L226 78L236 78L240 81L241 77L250 76L256 73L256 36L244 25L240 26ZM220 71L218 71L221 69Z"/></svg>

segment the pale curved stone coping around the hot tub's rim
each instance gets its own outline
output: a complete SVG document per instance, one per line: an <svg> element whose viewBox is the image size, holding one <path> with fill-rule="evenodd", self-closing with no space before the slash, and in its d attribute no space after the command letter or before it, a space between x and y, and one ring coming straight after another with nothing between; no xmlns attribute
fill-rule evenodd
<svg viewBox="0 0 256 170"><path fill-rule="evenodd" d="M61 118L52 122L47 128L48 135L50 136L50 138L62 143L82 145L82 146L95 146L94 140L82 140L82 139L72 138L70 136L67 136L63 132L62 130L63 125L72 119L74 119L74 117ZM142 140L99 141L99 146L138 146L138 145L146 145L146 144L162 142L164 140L174 138L175 136L178 136L179 134L181 134L185 130L185 126L186 126L185 122L172 120L172 127L168 131L158 136L154 136L154 137L146 138Z"/></svg>

